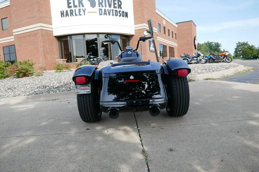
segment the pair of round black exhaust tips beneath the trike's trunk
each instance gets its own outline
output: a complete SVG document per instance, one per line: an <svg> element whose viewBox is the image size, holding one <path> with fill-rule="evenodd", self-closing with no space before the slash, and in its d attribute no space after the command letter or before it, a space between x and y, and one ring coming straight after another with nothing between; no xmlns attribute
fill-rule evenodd
<svg viewBox="0 0 259 172"><path fill-rule="evenodd" d="M158 116L160 113L161 106L159 104L153 104L149 107L148 112L150 113L151 116ZM108 109L109 112L109 117L112 119L116 119L119 117L120 111L117 107L110 107Z"/></svg>

